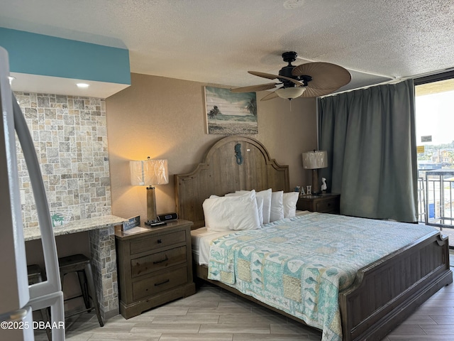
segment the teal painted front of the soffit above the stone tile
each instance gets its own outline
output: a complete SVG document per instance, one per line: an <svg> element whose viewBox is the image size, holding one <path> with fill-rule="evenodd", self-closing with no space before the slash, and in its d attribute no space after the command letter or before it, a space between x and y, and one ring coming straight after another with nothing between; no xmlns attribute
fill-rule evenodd
<svg viewBox="0 0 454 341"><path fill-rule="evenodd" d="M1 27L0 46L9 53L11 72L131 85L124 48Z"/></svg>

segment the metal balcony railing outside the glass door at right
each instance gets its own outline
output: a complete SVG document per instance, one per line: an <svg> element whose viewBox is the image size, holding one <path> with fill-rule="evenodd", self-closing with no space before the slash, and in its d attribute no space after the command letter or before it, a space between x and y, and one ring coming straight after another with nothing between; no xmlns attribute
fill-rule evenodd
<svg viewBox="0 0 454 341"><path fill-rule="evenodd" d="M454 169L419 172L419 221L454 228Z"/></svg>

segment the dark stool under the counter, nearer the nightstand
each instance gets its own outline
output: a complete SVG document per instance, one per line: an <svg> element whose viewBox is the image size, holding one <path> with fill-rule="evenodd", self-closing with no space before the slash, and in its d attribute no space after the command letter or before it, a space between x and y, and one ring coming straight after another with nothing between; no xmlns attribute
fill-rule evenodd
<svg viewBox="0 0 454 341"><path fill-rule="evenodd" d="M101 319L101 313L99 313L98 296L96 295L96 290L94 288L92 264L90 263L90 260L83 254L74 254L72 256L59 258L58 264L60 265L60 281L62 283L62 290L63 279L65 278L66 274L77 272L77 277L79 278L79 284L82 290L82 295L73 298L78 298L82 296L84 298L84 304L86 309L79 311L78 313L74 313L71 316L92 311L92 309L94 308L94 310L96 311L96 316L98 318L99 325L101 327L104 326L104 323L102 322ZM90 305L89 294L91 294L92 296L93 305ZM68 299L72 300L73 298ZM69 318L70 316L67 317Z"/></svg>

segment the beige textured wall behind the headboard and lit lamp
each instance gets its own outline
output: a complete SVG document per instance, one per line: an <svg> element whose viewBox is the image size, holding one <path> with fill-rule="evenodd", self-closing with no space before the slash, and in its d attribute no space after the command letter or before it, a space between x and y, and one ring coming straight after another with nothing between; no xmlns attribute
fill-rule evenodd
<svg viewBox="0 0 454 341"><path fill-rule="evenodd" d="M131 74L131 87L106 99L114 215L146 220L145 188L131 186L128 161L147 156L168 159L170 183L156 187L157 213L175 212L173 175L192 171L204 151L224 137L206 134L205 85ZM277 163L289 165L291 188L309 185L301 152L316 148L316 101L260 102L265 94L258 93L259 134L250 137L262 142Z"/></svg>

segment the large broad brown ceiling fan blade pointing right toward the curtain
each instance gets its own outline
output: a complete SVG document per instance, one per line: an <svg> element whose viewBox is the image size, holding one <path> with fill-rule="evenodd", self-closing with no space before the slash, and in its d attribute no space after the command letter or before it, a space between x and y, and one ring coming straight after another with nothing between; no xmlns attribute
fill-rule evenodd
<svg viewBox="0 0 454 341"><path fill-rule="evenodd" d="M348 84L352 79L350 72L345 68L336 64L323 62L298 65L292 70L292 75L311 76L312 80L307 83L307 86L321 90L337 90L339 87Z"/></svg>

